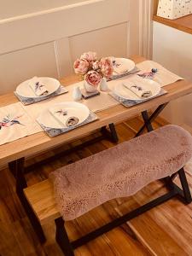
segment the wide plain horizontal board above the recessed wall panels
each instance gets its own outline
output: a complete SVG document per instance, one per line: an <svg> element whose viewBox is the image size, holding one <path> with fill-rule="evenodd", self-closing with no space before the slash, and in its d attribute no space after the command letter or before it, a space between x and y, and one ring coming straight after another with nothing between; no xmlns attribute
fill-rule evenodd
<svg viewBox="0 0 192 256"><path fill-rule="evenodd" d="M2 21L0 54L125 22L129 20L128 3L127 0L85 1L56 11Z"/></svg>

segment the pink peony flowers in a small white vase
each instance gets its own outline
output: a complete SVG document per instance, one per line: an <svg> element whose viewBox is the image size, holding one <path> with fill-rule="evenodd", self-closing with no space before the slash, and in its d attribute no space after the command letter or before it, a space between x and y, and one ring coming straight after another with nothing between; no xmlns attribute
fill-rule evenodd
<svg viewBox="0 0 192 256"><path fill-rule="evenodd" d="M74 61L74 72L84 80L84 89L87 92L95 92L102 78L110 78L113 75L113 62L110 58L97 59L96 52L85 52Z"/></svg>

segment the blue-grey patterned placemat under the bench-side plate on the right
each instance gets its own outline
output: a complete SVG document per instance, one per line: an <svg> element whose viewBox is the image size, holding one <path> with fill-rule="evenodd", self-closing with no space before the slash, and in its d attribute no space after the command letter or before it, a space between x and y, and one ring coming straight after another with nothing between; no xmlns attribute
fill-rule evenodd
<svg viewBox="0 0 192 256"><path fill-rule="evenodd" d="M125 98L117 96L114 92L110 92L109 95L113 96L113 98L116 101L118 101L120 104L124 105L126 108L130 108L130 107L135 106L137 104L140 104L140 103L143 103L143 102L148 102L148 101L150 101L150 100L152 100L152 99L154 99L156 97L165 95L166 93L167 93L167 91L161 88L159 94L157 94L157 95L155 95L153 97L150 97L149 99L147 98L147 99L143 99L143 100L139 100L139 101L137 101L137 100L135 100L135 101L133 101L133 100L125 100Z"/></svg>

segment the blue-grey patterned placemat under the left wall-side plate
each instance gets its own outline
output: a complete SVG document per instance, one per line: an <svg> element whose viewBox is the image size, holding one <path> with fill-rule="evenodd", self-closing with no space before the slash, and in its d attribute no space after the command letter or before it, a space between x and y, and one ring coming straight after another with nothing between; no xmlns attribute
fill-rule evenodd
<svg viewBox="0 0 192 256"><path fill-rule="evenodd" d="M64 94L64 93L67 93L68 90L66 90L66 88L64 88L63 86L60 86L60 88L58 90L56 90L54 93L50 94L49 96L41 96L41 97L35 97L35 98L29 98L29 97L25 97L25 96L20 96L19 94L16 93L16 91L14 92L15 93L15 96L20 100L21 103L23 103L23 105L30 105L32 103L35 103L35 102L42 102L44 100L47 100L49 99L50 97L53 97L53 96L59 96L61 94Z"/></svg>

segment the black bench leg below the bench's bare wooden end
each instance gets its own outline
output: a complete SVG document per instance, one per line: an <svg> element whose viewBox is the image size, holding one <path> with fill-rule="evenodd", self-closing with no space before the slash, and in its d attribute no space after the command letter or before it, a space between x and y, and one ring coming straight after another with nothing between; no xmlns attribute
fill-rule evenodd
<svg viewBox="0 0 192 256"><path fill-rule="evenodd" d="M65 229L65 222L63 218L56 218L55 225L56 225L55 240L61 247L62 252L66 256L74 256L73 247L68 239L67 231Z"/></svg>

